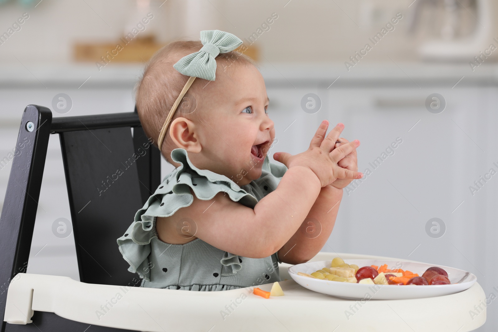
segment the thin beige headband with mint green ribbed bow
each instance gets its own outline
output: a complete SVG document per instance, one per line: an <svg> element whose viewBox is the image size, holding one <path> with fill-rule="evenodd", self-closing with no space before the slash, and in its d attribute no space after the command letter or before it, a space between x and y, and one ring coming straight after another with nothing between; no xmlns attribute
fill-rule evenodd
<svg viewBox="0 0 498 332"><path fill-rule="evenodd" d="M190 76L187 83L183 87L180 95L171 107L166 121L159 133L157 145L161 150L162 141L166 135L173 114L175 113L180 101L183 99L187 90L190 88L196 77L209 81L216 79L216 56L220 53L227 53L239 47L243 42L237 36L220 30L203 30L201 31L202 48L198 52L191 53L181 58L173 65L178 72L183 75Z"/></svg>

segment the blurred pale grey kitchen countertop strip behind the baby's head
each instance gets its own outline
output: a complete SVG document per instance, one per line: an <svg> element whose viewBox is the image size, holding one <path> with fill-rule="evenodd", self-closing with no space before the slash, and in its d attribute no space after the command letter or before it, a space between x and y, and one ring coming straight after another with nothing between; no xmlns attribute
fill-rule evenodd
<svg viewBox="0 0 498 332"><path fill-rule="evenodd" d="M469 59L470 61L471 59ZM489 86L498 84L498 64L484 63L358 63L348 71L344 63L258 64L267 87L319 88L433 85ZM18 64L0 69L1 89L45 88L132 88L143 70L142 64L113 64L99 69L92 63ZM336 81L337 79L337 81ZM333 84L332 84L333 83ZM332 85L331 85L332 84Z"/></svg>

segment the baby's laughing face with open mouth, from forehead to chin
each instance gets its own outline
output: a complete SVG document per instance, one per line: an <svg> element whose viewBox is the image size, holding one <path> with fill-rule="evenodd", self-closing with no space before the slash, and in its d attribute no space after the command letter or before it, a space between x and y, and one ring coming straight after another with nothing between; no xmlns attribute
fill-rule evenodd
<svg viewBox="0 0 498 332"><path fill-rule="evenodd" d="M202 89L202 121L196 130L202 146L192 155L201 169L223 174L246 185L261 176L261 166L275 137L266 113L268 96L264 80L253 65L218 63L216 80ZM204 83L204 82L203 82Z"/></svg>

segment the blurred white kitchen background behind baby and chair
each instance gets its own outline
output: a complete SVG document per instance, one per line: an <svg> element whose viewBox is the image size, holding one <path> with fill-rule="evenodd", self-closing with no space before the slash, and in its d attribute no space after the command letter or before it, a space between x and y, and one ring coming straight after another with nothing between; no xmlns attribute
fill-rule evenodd
<svg viewBox="0 0 498 332"><path fill-rule="evenodd" d="M302 152L322 119L361 141L359 170L372 173L345 189L324 251L465 269L497 297L498 175L486 175L498 171L497 17L493 0L1 0L0 204L27 105L54 116L133 111L157 49L220 29L258 62L271 152ZM72 106L55 110L61 93ZM171 169L163 162L163 175ZM79 280L72 234L52 233L58 218L71 216L51 135L28 272ZM477 331L496 331L495 302Z"/></svg>

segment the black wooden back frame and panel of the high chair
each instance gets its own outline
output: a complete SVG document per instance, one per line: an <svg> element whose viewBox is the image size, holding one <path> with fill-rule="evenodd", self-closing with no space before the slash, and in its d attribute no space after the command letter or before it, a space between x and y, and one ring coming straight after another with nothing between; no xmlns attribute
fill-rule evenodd
<svg viewBox="0 0 498 332"><path fill-rule="evenodd" d="M136 110L52 119L49 109L36 105L26 107L22 116L17 143L24 145L12 160L1 212L0 280L8 288L17 273L26 272L51 133L60 135L80 281L138 286L132 282L138 275L127 271L116 239L160 183L159 150L145 136ZM7 292L0 288L3 317ZM65 322L65 329L81 325L54 314L37 314ZM5 326L3 318L2 323L2 332L31 329Z"/></svg>

